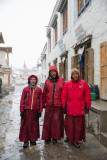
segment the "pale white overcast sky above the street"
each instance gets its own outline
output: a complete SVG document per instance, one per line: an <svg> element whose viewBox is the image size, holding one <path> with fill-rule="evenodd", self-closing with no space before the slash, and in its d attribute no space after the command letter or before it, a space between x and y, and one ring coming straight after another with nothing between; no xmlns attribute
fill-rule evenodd
<svg viewBox="0 0 107 160"><path fill-rule="evenodd" d="M13 47L10 65L31 68L47 42L46 27L56 0L0 0L0 32ZM2 44L0 44L2 46Z"/></svg>

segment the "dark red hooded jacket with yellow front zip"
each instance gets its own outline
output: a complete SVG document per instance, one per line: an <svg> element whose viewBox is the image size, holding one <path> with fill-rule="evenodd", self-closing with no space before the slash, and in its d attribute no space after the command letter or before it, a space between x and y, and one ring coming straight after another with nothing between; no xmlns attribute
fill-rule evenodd
<svg viewBox="0 0 107 160"><path fill-rule="evenodd" d="M31 77L31 76L30 76ZM28 78L28 82L29 79ZM36 77L37 79L37 77ZM25 87L22 92L21 101L20 101L20 112L24 112L24 109L36 109L39 112L42 112L42 90L39 87L30 88L29 86Z"/></svg>

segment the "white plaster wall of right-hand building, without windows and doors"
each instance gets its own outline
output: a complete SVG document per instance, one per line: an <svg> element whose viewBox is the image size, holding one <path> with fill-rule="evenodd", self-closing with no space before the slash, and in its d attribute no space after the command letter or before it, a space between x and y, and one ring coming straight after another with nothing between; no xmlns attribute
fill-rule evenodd
<svg viewBox="0 0 107 160"><path fill-rule="evenodd" d="M57 15L58 41L62 38L66 51L68 51L68 80L71 72L71 57L74 55L74 49L71 48L78 42L75 36L75 30L82 25L85 35L92 35L91 48L94 49L94 84L100 86L100 43L107 41L107 0L91 0L89 6L78 17L77 0L68 0L68 31L63 35L63 17L57 8L62 0L58 0L51 19L47 33L51 30L51 52L49 51L49 38L47 38L47 75L50 63L53 64L57 58L57 68L61 61L61 51L58 44L54 45L54 28L50 27L54 17Z"/></svg>

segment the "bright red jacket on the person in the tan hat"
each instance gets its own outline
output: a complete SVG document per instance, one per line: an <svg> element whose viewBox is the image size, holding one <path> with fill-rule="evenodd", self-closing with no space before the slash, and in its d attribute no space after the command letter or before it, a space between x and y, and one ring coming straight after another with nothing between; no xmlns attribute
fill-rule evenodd
<svg viewBox="0 0 107 160"><path fill-rule="evenodd" d="M85 114L85 102L87 108L91 106L91 94L88 84L84 80L68 81L62 90L62 107L67 102L67 115L81 116Z"/></svg>

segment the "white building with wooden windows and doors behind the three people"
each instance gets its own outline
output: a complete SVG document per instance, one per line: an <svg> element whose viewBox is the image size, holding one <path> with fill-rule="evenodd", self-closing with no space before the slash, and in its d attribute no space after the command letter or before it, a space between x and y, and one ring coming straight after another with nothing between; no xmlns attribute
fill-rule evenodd
<svg viewBox="0 0 107 160"><path fill-rule="evenodd" d="M47 72L55 64L67 81L77 67L107 100L107 0L58 0L46 34Z"/></svg>

